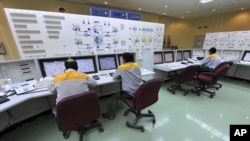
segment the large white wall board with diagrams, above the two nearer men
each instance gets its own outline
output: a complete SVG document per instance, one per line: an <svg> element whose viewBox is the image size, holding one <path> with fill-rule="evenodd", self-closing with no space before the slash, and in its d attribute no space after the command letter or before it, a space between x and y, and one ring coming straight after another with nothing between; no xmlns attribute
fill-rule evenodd
<svg viewBox="0 0 250 141"><path fill-rule="evenodd" d="M164 24L5 8L25 58L162 50ZM139 54L139 55L138 55Z"/></svg>

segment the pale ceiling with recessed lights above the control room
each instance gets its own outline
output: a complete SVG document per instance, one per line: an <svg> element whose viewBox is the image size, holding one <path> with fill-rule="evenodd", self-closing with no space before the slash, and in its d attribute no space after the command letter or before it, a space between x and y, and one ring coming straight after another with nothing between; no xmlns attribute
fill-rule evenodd
<svg viewBox="0 0 250 141"><path fill-rule="evenodd" d="M250 9L250 0L214 0L201 4L199 0L59 0L107 7L131 12L146 12L176 18L198 18L213 14ZM105 4L107 2L107 4ZM141 8L141 10L139 10Z"/></svg>

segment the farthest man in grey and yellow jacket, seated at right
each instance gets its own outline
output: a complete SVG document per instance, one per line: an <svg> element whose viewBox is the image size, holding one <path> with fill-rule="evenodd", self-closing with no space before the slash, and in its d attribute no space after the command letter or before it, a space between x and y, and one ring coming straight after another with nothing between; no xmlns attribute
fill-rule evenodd
<svg viewBox="0 0 250 141"><path fill-rule="evenodd" d="M214 69L222 62L222 59L219 56L219 54L216 53L215 47L210 48L208 51L209 51L208 57L201 60L200 64L203 65L203 68Z"/></svg>

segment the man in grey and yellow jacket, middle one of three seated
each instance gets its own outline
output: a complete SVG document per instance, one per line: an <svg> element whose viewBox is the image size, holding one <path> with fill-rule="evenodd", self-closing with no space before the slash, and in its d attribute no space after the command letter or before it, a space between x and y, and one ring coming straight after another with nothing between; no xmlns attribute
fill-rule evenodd
<svg viewBox="0 0 250 141"><path fill-rule="evenodd" d="M134 92L142 84L141 70L137 63L134 61L134 54L124 53L123 64L113 74L113 79L122 80L122 92L116 93L112 97L112 104L108 113L103 113L103 118L114 119L115 110L119 97L133 97Z"/></svg>

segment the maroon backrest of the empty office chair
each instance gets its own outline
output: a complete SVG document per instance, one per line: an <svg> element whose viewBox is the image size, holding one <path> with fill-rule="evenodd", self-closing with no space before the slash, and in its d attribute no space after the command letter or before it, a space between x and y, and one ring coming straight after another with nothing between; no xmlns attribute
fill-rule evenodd
<svg viewBox="0 0 250 141"><path fill-rule="evenodd" d="M193 80L193 77L199 68L199 65L191 65L181 70L179 76L179 83L184 83Z"/></svg>

